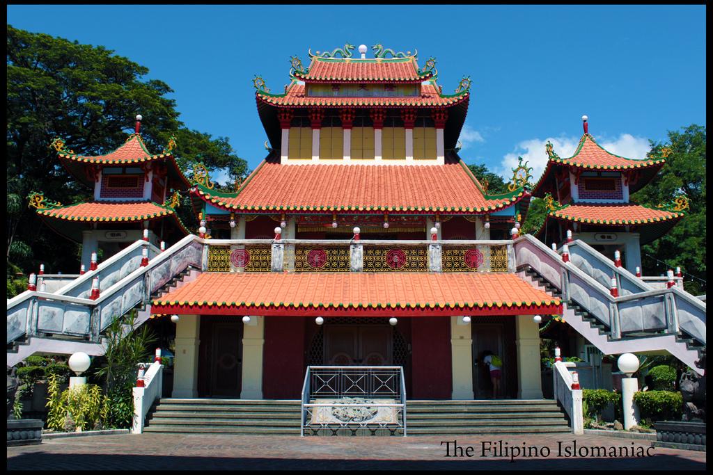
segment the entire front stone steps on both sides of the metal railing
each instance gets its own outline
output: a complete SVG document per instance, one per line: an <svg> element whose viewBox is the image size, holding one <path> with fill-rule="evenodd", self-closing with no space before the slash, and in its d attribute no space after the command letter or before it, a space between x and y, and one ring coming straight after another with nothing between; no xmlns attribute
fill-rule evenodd
<svg viewBox="0 0 713 475"><path fill-rule="evenodd" d="M163 398L145 432L299 435L298 400ZM400 432L400 431L399 431ZM572 432L553 400L409 401L409 435Z"/></svg>

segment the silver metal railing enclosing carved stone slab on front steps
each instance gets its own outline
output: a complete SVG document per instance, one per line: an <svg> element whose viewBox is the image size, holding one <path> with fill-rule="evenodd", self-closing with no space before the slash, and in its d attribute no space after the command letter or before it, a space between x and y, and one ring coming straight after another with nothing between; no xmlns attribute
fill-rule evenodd
<svg viewBox="0 0 713 475"><path fill-rule="evenodd" d="M327 429L406 436L406 380L402 366L308 366L302 385L300 432Z"/></svg>

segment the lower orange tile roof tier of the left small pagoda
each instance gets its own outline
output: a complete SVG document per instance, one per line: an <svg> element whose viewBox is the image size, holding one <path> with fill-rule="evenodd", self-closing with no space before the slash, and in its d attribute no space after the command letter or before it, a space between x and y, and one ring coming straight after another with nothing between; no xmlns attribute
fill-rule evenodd
<svg viewBox="0 0 713 475"><path fill-rule="evenodd" d="M91 202L38 209L38 214L69 221L143 221L173 214L154 202Z"/></svg>

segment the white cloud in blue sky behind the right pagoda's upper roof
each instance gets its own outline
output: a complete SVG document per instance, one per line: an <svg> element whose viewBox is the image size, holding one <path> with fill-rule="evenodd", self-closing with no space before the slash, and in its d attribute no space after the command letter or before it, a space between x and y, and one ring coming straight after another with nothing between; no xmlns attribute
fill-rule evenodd
<svg viewBox="0 0 713 475"><path fill-rule="evenodd" d="M544 140L538 138L523 140L518 143L513 149L513 152L506 154L503 157L503 163L495 172L506 179L511 179L513 176L513 168L518 166L518 156L523 157L523 162L529 162L529 167L533 167L532 182L536 183L545 171L547 165L547 152L545 152L545 144L552 142L555 153L562 158L571 157L577 145L579 145L580 137L548 137ZM620 155L621 157L642 159L650 150L649 140L645 137L634 137L630 134L622 134L616 140L608 142L597 142L607 151Z"/></svg>

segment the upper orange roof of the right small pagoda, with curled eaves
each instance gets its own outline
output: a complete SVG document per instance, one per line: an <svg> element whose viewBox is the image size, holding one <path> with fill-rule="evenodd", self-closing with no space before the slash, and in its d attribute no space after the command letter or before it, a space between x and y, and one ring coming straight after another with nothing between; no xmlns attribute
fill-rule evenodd
<svg viewBox="0 0 713 475"><path fill-rule="evenodd" d="M642 174L640 179L630 183L630 192L633 193L647 184L658 169L666 162L662 157L650 157L645 160L620 157L605 150L604 147L599 145L594 137L588 133L582 135L577 150L575 150L572 157L560 158L550 143L547 145L547 154L549 157L547 167L533 189L533 195L535 197L542 197L545 192L548 191L550 182L553 180L555 167L558 166L582 170L640 172L640 174Z"/></svg>

